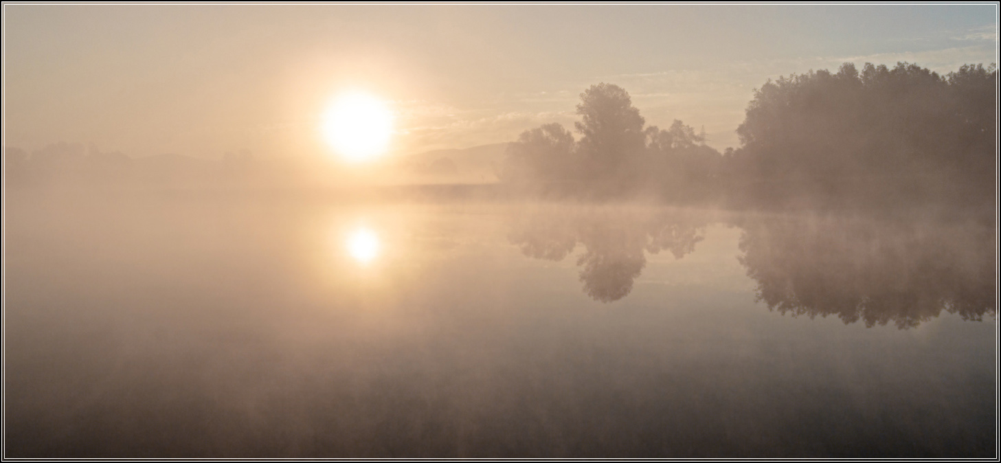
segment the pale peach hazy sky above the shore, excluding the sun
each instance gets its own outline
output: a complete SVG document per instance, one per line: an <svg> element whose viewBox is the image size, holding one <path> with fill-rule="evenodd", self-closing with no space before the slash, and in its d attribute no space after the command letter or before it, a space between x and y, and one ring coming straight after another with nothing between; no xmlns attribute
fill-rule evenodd
<svg viewBox="0 0 1001 463"><path fill-rule="evenodd" d="M310 159L345 88L390 100L395 154L572 127L591 84L648 124L737 146L753 89L852 61L939 72L997 61L998 8L972 5L3 6L4 144L131 156Z"/></svg>

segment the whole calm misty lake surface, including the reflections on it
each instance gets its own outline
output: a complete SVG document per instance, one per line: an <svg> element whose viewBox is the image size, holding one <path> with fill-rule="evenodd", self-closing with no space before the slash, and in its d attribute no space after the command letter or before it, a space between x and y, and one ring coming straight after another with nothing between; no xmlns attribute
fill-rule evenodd
<svg viewBox="0 0 1001 463"><path fill-rule="evenodd" d="M5 456L994 456L989 221L8 199Z"/></svg>

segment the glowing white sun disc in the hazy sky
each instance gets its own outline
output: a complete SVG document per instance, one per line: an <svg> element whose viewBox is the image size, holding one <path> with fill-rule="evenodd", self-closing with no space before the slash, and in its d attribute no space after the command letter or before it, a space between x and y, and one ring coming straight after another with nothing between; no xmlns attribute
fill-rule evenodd
<svg viewBox="0 0 1001 463"><path fill-rule="evenodd" d="M320 131L344 159L373 159L389 147L392 111L385 102L367 93L345 93L323 113Z"/></svg>

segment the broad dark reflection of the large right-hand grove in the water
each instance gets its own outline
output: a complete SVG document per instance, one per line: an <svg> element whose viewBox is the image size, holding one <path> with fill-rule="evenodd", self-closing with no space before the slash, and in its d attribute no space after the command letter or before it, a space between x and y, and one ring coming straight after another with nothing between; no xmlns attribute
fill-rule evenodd
<svg viewBox="0 0 1001 463"><path fill-rule="evenodd" d="M770 310L901 329L942 310L997 314L993 225L771 217L742 227L739 260Z"/></svg>

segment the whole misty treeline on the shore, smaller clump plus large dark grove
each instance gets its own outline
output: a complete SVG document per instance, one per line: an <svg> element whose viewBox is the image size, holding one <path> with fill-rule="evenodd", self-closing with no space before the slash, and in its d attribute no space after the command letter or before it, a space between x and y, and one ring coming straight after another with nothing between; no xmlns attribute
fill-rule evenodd
<svg viewBox="0 0 1001 463"><path fill-rule="evenodd" d="M534 195L654 197L766 208L995 206L997 69L940 76L851 63L769 81L724 153L675 121L645 126L626 90L581 95L578 137L559 124L511 145L502 180Z"/></svg>

